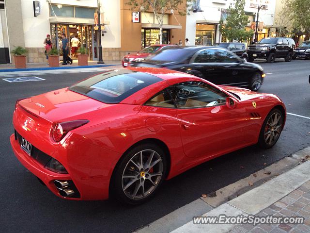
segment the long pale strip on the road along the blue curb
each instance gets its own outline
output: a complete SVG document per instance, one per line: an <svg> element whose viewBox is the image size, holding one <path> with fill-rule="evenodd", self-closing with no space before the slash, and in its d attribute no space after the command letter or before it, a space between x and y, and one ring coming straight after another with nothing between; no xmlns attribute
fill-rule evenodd
<svg viewBox="0 0 310 233"><path fill-rule="evenodd" d="M74 68L74 69L52 69L52 70L29 70L29 71L8 71L0 72L0 78L26 76L26 75L47 75L47 74L63 74L63 73L80 73L80 72L100 72L107 69L102 68Z"/></svg>

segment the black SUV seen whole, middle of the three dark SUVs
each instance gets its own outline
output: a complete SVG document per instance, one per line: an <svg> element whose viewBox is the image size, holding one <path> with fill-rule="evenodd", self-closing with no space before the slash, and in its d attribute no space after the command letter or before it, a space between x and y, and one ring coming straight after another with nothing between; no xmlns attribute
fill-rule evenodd
<svg viewBox="0 0 310 233"><path fill-rule="evenodd" d="M264 58L267 63L274 63L276 58L284 58L285 62L292 61L295 55L295 42L292 38L267 37L258 43L248 46L248 61Z"/></svg>

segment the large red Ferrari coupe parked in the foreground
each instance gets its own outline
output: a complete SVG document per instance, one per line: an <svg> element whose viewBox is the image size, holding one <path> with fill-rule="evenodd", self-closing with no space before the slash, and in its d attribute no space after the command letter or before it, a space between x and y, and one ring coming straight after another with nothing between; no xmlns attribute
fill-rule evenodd
<svg viewBox="0 0 310 233"><path fill-rule="evenodd" d="M193 166L256 143L274 146L285 118L275 95L132 67L16 101L10 141L58 197L137 204Z"/></svg>

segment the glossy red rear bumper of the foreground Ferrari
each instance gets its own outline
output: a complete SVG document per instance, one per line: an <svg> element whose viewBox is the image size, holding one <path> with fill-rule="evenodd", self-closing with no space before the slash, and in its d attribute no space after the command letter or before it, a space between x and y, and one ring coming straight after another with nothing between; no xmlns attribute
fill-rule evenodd
<svg viewBox="0 0 310 233"><path fill-rule="evenodd" d="M50 171L38 163L20 148L15 135L10 137L12 149L16 158L32 174L42 180L57 197L69 200L106 200L109 198L109 182L117 161L121 154L106 150L77 138L68 139L51 157L58 160L68 174ZM86 149L86 150L85 150ZM76 190L78 196L64 198L54 181L68 181L69 189Z"/></svg>

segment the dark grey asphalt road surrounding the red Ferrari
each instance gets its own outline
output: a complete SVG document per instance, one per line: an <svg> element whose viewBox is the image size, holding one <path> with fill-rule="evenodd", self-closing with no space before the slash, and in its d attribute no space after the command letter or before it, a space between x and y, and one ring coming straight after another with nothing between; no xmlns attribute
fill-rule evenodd
<svg viewBox="0 0 310 233"><path fill-rule="evenodd" d="M293 60L263 66L267 76L259 92L277 94L288 113L310 117L310 61ZM280 60L279 60L280 61ZM46 81L0 80L0 226L2 232L132 232L173 210L310 146L310 119L287 116L275 147L251 146L197 166L163 183L156 197L140 206L114 201L68 201L54 196L14 156L9 143L18 98L65 87L91 73L36 75ZM243 166L244 168L241 168Z"/></svg>

